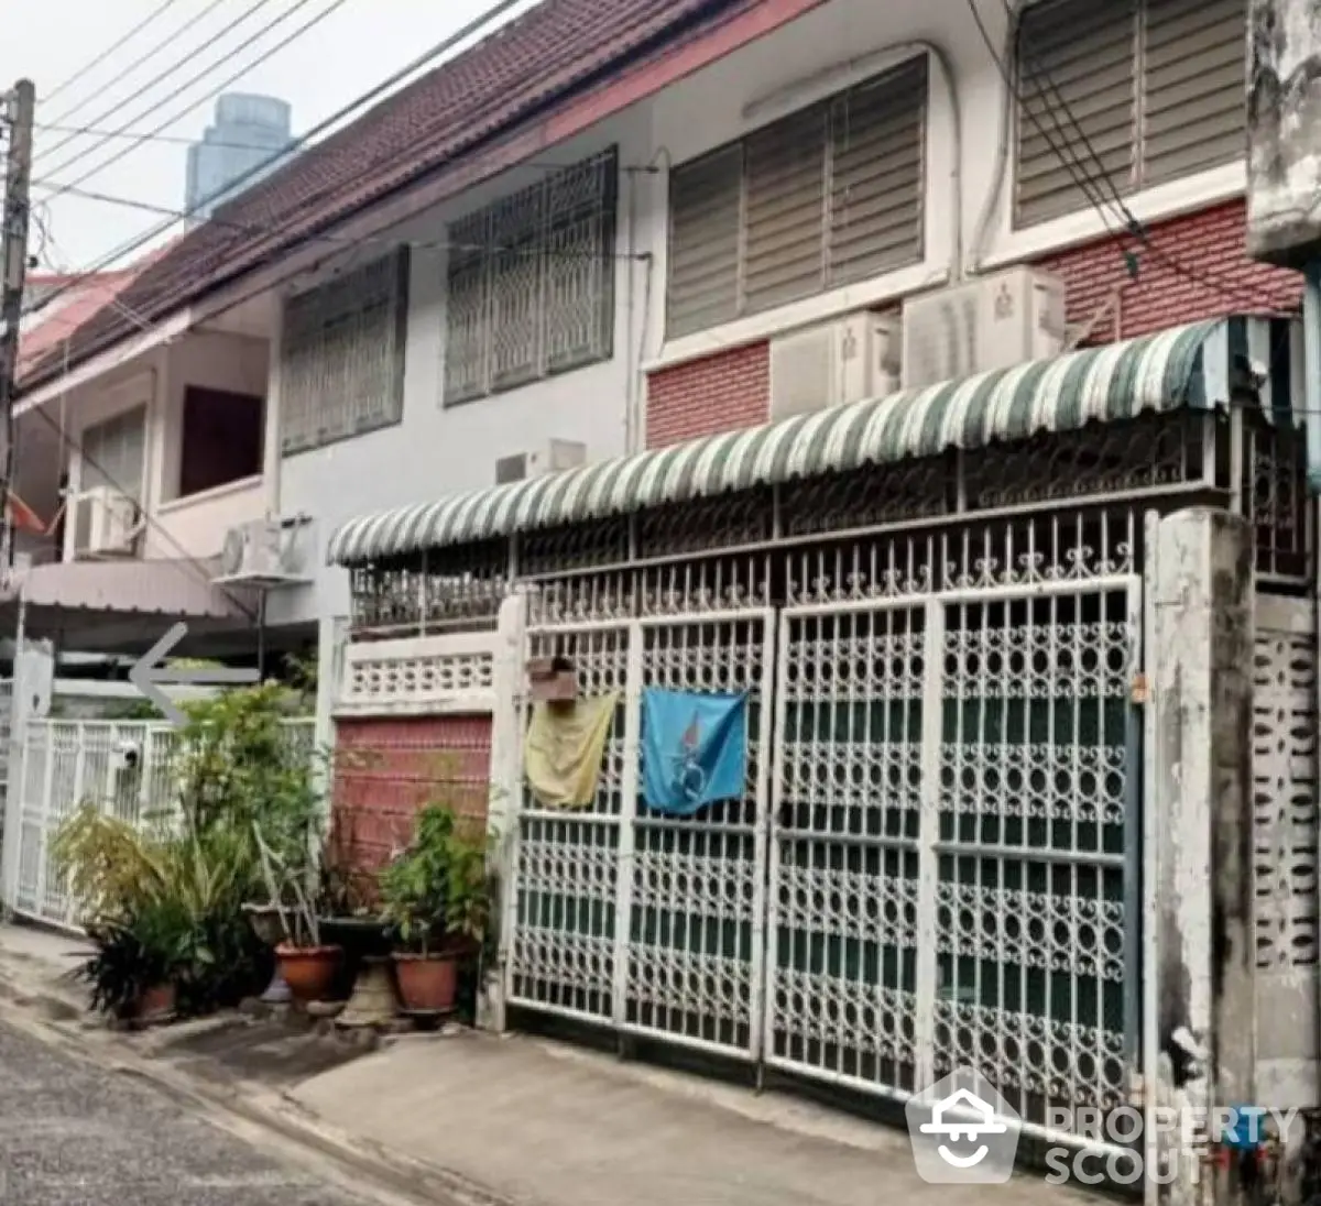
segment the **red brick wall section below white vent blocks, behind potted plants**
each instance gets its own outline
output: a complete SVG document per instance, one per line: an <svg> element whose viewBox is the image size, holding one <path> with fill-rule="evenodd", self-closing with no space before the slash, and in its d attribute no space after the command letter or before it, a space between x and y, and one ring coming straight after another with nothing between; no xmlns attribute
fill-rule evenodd
<svg viewBox="0 0 1321 1206"><path fill-rule="evenodd" d="M424 804L449 803L486 830L490 716L373 717L336 725L334 824L359 870L408 844Z"/></svg>

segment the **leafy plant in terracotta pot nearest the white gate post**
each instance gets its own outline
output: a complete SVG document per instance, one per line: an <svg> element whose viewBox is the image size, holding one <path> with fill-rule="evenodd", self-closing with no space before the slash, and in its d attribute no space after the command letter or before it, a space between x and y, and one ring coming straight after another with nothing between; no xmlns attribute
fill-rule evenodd
<svg viewBox="0 0 1321 1206"><path fill-rule="evenodd" d="M406 1011L453 1009L458 963L481 942L489 900L485 844L458 830L450 808L423 808L412 843L380 873L382 911L396 942Z"/></svg>

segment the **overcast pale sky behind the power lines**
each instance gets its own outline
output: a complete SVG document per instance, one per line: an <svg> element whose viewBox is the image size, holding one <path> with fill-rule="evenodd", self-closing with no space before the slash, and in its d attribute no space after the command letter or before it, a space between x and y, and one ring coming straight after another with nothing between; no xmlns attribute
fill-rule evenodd
<svg viewBox="0 0 1321 1206"><path fill-rule="evenodd" d="M522 8L534 3L526 0ZM106 62L85 70L162 5L160 16ZM320 12L334 9L306 34L225 86L225 91L288 100L295 135L493 7L494 0L4 0L0 90L21 77L37 85L34 180L71 184L94 172L78 184L79 190L182 209L188 155L182 140L201 136L215 92ZM281 16L285 20L262 33ZM222 33L231 22L238 24ZM248 38L255 41L239 49ZM161 42L164 49L135 66ZM213 65L215 69L207 70ZM165 78L152 83L157 75ZM201 78L184 87L193 77ZM59 89L69 79L73 82ZM180 95L165 100L181 87ZM129 100L139 90L143 95ZM54 95L41 99L50 92ZM125 125L137 133L155 131L169 119L161 136L148 141L106 137ZM102 133L71 135L42 125L91 127ZM71 140L59 145L65 139ZM95 170L118 155L123 159ZM52 190L34 188L33 197L50 198ZM168 221L71 194L49 201L44 213L50 230L44 267L58 271L86 268ZM38 238L36 232L33 238Z"/></svg>

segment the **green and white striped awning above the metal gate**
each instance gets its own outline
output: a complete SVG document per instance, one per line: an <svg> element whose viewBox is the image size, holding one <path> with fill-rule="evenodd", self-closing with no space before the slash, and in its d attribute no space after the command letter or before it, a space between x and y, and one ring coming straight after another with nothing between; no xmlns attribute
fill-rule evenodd
<svg viewBox="0 0 1321 1206"><path fill-rule="evenodd" d="M1148 409L1229 402L1231 349L1266 349L1266 320L1218 318L923 390L614 457L530 481L359 515L330 538L354 564L602 518L797 477L1067 431Z"/></svg>

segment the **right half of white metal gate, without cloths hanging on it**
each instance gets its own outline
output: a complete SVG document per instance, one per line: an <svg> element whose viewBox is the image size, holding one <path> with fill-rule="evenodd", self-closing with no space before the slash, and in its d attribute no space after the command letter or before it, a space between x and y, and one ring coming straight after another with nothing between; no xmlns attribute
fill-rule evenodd
<svg viewBox="0 0 1321 1206"><path fill-rule="evenodd" d="M1029 1123L1136 1059L1140 581L781 617L766 1059Z"/></svg>

